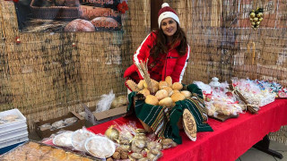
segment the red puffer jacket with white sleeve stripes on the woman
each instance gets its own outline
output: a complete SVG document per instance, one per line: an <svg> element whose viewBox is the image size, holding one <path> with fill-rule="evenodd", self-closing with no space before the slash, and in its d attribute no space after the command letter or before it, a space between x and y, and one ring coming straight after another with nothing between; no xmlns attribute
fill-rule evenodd
<svg viewBox="0 0 287 161"><path fill-rule="evenodd" d="M138 71L135 64L140 64L141 61L146 62L147 58L149 59L148 64L152 64L151 61L153 61L153 59L152 56L150 56L150 50L156 42L156 37L156 33L152 32L143 40L141 46L137 48L134 55L134 64L128 67L126 69L126 72L124 73L124 77L126 79L130 78L132 75L135 75L135 72L137 72L139 77L137 77L137 79L135 79L134 77L135 82L143 80L143 73L140 73ZM170 76L173 82L181 82L183 78L184 72L187 67L190 48L187 45L187 54L178 55L178 51L176 50L176 47L178 47L178 45L179 43L175 45L175 47L169 48L169 53L165 55L163 69L161 72L161 80L165 80L165 77ZM150 67L149 72L151 73Z"/></svg>

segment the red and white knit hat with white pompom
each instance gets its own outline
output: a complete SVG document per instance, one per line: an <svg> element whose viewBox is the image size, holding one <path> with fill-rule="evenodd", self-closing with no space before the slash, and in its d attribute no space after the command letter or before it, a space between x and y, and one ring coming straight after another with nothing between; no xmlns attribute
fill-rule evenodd
<svg viewBox="0 0 287 161"><path fill-rule="evenodd" d="M168 3L161 4L161 10L158 16L159 16L158 22L160 29L161 29L161 21L165 18L172 18L175 21L177 21L179 25L178 14L172 8L170 8L170 5Z"/></svg>

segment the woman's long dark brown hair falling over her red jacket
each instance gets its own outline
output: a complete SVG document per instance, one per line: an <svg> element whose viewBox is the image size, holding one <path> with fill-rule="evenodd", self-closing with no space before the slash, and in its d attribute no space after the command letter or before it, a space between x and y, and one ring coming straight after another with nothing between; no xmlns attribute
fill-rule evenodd
<svg viewBox="0 0 287 161"><path fill-rule="evenodd" d="M156 44L152 47L150 51L150 55L152 57L157 57L161 53L168 53L168 38L163 33L163 30L153 30L155 34L157 35L156 38ZM178 51L178 55L186 55L187 53L187 36L186 33L180 28L180 26L177 23L177 31L172 36L172 42L170 43L170 47L175 46L176 43L178 43L178 40L180 41L180 44L178 47L176 47L176 50Z"/></svg>

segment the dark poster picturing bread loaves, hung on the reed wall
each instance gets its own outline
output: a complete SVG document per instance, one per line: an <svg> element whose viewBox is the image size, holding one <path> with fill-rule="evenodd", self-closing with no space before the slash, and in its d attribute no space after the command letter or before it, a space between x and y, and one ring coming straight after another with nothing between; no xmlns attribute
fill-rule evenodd
<svg viewBox="0 0 287 161"><path fill-rule="evenodd" d="M19 0L14 2L21 32L91 32L121 30L126 1Z"/></svg>

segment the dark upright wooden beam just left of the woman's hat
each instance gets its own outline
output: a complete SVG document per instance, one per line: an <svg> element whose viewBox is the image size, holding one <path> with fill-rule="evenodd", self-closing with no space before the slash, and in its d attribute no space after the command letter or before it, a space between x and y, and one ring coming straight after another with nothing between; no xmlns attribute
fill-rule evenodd
<svg viewBox="0 0 287 161"><path fill-rule="evenodd" d="M159 29L158 13L163 0L151 0L151 30Z"/></svg>

